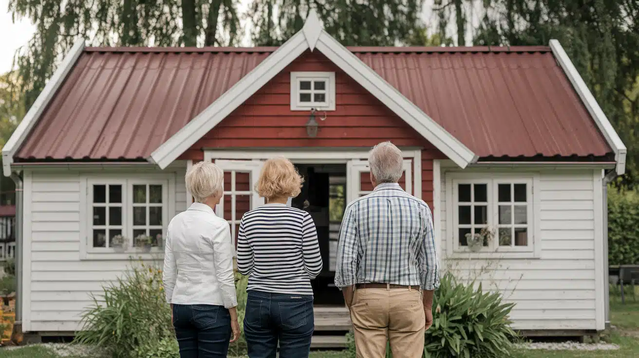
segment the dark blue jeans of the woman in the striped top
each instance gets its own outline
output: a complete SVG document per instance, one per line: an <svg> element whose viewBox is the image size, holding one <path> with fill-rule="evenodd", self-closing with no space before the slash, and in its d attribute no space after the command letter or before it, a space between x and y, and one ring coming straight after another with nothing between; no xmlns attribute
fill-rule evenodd
<svg viewBox="0 0 639 358"><path fill-rule="evenodd" d="M244 316L249 358L307 358L315 329L312 295L250 290Z"/></svg>

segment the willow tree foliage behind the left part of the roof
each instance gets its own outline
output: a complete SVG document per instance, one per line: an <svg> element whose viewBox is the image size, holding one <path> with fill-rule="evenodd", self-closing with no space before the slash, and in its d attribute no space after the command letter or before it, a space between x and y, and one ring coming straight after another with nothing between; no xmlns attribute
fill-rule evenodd
<svg viewBox="0 0 639 358"><path fill-rule="evenodd" d="M77 38L93 46L223 46L236 42L238 0L10 0L36 26L15 62L27 108Z"/></svg>

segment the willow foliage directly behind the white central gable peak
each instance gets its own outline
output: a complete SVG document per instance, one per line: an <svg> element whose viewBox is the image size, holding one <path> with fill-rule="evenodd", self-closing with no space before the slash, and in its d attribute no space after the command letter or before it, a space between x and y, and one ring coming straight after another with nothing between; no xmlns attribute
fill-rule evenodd
<svg viewBox="0 0 639 358"><path fill-rule="evenodd" d="M254 0L252 40L277 46L302 29L315 8L325 30L345 46L394 46L419 31L423 0Z"/></svg>

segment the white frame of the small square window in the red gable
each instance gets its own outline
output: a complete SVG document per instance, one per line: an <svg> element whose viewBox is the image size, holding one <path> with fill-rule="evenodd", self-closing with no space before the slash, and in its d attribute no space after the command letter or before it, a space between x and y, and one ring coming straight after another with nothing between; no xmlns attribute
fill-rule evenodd
<svg viewBox="0 0 639 358"><path fill-rule="evenodd" d="M313 89L313 82L316 80L326 82L325 91L320 91L325 93L324 98L326 101L324 102L314 101L316 90ZM300 89L300 82L302 81L310 81L311 89ZM311 101L301 102L300 93L310 93ZM311 110L311 108L316 110L335 110L335 72L291 72L291 110Z"/></svg>

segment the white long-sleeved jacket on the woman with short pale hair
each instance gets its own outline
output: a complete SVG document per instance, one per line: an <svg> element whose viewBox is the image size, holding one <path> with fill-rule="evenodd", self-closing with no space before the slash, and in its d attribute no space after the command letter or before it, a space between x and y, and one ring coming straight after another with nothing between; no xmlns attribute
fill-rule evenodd
<svg viewBox="0 0 639 358"><path fill-rule="evenodd" d="M169 303L237 306L229 223L208 205L193 203L169 223L162 280Z"/></svg>

